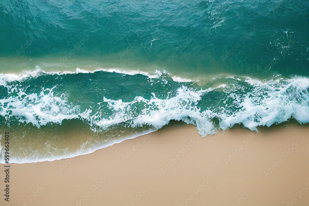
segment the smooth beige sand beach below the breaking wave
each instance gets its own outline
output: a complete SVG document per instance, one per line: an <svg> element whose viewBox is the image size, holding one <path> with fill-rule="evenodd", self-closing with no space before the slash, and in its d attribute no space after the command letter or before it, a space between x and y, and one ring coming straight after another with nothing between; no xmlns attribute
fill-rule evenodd
<svg viewBox="0 0 309 206"><path fill-rule="evenodd" d="M0 205L309 205L307 126L201 138L193 125L168 125L148 137L74 159L10 164L10 201L3 177Z"/></svg>

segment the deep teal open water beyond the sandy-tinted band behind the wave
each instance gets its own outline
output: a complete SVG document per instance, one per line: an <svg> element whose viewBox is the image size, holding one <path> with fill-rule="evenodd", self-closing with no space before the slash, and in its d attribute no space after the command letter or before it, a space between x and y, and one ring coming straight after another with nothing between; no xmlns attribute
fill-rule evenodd
<svg viewBox="0 0 309 206"><path fill-rule="evenodd" d="M57 54L65 65L116 54L108 60L187 72L308 74L306 0L23 0L0 10L1 57Z"/></svg>

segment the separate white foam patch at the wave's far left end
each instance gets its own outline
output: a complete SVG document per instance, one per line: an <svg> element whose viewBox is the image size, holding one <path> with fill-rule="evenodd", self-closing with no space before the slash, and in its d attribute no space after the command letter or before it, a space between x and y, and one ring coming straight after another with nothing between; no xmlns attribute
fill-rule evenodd
<svg viewBox="0 0 309 206"><path fill-rule="evenodd" d="M12 88L17 96L0 99L0 115L15 116L19 122L32 123L37 127L49 122L61 124L64 119L74 119L79 116L86 117L87 111L79 114L79 106L67 104L65 94L60 97L54 95L53 89L45 89L40 94L26 94L23 90ZM47 93L47 94L45 94Z"/></svg>

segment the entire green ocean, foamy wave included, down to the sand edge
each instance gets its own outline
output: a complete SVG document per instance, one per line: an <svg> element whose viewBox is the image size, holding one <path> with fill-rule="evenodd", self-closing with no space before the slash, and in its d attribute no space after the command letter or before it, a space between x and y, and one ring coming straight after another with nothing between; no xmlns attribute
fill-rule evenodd
<svg viewBox="0 0 309 206"><path fill-rule="evenodd" d="M90 153L171 120L201 137L309 122L306 0L4 1L0 36L10 162Z"/></svg>

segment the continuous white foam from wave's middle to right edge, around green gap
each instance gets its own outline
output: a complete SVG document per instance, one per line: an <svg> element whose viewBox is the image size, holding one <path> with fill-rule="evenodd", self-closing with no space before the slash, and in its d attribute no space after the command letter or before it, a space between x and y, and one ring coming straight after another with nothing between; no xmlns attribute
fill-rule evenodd
<svg viewBox="0 0 309 206"><path fill-rule="evenodd" d="M109 126L113 123L120 123L132 120L130 126L142 126L145 124L161 128L170 120L183 120L188 124L195 124L201 136L214 134L217 129L212 123L212 118L220 120L219 126L223 130L232 127L234 124L242 123L245 127L256 130L257 126L270 126L272 124L282 123L290 118L295 118L299 123L309 122L309 95L307 78L294 78L290 80L279 79L277 81L260 81L247 78L246 82L254 86L253 90L245 95L229 93L230 97L235 99L234 109L231 115L228 108L223 108L221 112L211 110L201 111L196 105L201 96L214 89L234 88L235 86L222 84L216 88L208 90L193 91L187 87L177 90L176 97L167 99L158 99L155 95L147 100L137 97L133 102L127 103L122 100L104 99L108 102L108 107L116 111L112 120L102 120L100 125L105 123ZM290 90L290 91L288 91ZM226 92L230 92L226 90ZM137 99L152 105L146 107L135 117L131 107ZM189 117L189 118L188 118ZM106 124L108 123L108 124Z"/></svg>

